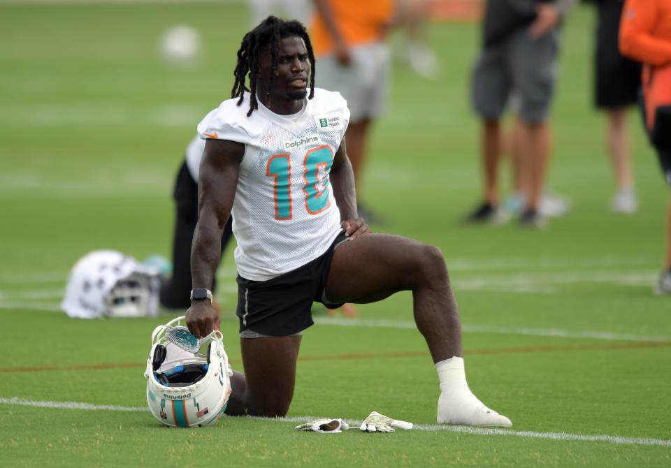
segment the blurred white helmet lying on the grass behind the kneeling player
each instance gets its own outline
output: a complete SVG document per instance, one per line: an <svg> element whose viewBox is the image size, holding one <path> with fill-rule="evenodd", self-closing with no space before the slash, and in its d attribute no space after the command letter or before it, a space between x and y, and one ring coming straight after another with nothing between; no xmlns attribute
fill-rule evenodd
<svg viewBox="0 0 671 468"><path fill-rule="evenodd" d="M156 316L157 272L114 250L96 250L75 263L61 303L79 319Z"/></svg>

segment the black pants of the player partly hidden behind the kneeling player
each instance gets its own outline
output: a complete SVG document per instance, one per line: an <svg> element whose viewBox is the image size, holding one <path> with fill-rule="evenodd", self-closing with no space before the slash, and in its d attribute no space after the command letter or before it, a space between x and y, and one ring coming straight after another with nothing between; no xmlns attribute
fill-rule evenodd
<svg viewBox="0 0 671 468"><path fill-rule="evenodd" d="M188 309L191 305L191 243L198 221L198 184L191 177L187 163L175 181L175 233L173 237L173 276L161 281L161 305L168 309ZM231 218L222 235L222 256L231 239ZM212 291L215 290L212 282Z"/></svg>

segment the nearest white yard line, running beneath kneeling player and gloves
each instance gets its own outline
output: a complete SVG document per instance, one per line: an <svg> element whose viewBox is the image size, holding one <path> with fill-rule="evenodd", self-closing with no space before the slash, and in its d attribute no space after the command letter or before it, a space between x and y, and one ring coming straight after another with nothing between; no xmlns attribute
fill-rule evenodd
<svg viewBox="0 0 671 468"><path fill-rule="evenodd" d="M26 407L50 408L50 409L83 409L92 411L125 411L134 413L144 413L148 409L146 407L122 407L110 404L90 404L80 402L49 402L27 400L25 398L5 398L0 397L0 404L13 404ZM315 416L290 416L288 418L253 418L259 420L272 421L277 423L305 423L317 419ZM346 419L347 423L356 430L361 424L361 420ZM549 439L556 441L584 441L584 442L607 442L609 444L628 444L628 445L651 445L671 447L671 440L668 439L650 439L645 437L621 437L616 435L585 435L585 434L570 434L568 432L535 432L535 431L517 431L507 429L488 429L484 427L468 427L468 426L451 426L451 425L437 425L437 424L416 424L412 430L420 431L449 431L459 432L462 434L473 435L503 435L528 437L531 439ZM400 432L403 432L399 430Z"/></svg>

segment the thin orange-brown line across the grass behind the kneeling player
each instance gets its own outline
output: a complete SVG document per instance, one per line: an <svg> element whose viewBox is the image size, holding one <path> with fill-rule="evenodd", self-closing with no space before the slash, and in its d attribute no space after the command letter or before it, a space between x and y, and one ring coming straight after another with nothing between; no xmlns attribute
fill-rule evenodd
<svg viewBox="0 0 671 468"><path fill-rule="evenodd" d="M621 344L579 344L572 346L525 346L519 348L491 348L471 349L464 351L466 356L476 355L498 355L498 354L524 354L524 353L549 353L555 351L608 351L623 349L644 348L670 348L671 343L642 342ZM347 353L332 356L299 356L299 361L327 361L327 360L362 360L362 359L386 359L386 358L414 358L428 356L428 351L402 351L394 353ZM240 363L240 360L230 359L231 363ZM22 366L0 368L0 372L48 372L48 371L71 371L71 370L108 370L124 369L127 367L145 367L146 363L109 363L72 366Z"/></svg>

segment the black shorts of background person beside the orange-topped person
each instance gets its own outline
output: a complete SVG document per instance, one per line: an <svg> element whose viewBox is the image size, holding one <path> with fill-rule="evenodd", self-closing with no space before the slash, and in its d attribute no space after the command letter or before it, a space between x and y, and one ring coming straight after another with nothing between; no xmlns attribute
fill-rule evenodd
<svg viewBox="0 0 671 468"><path fill-rule="evenodd" d="M640 64L623 57L617 47L622 6L619 0L598 2L594 97L602 109L635 104L641 83Z"/></svg>

